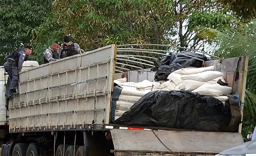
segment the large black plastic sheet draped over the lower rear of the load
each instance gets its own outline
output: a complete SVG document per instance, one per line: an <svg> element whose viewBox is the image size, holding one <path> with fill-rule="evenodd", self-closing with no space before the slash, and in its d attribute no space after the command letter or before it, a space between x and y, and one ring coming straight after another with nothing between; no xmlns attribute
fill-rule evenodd
<svg viewBox="0 0 256 156"><path fill-rule="evenodd" d="M230 118L230 107L212 96L190 91L154 91L140 98L115 123L222 131Z"/></svg>

